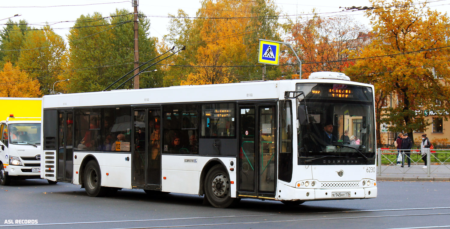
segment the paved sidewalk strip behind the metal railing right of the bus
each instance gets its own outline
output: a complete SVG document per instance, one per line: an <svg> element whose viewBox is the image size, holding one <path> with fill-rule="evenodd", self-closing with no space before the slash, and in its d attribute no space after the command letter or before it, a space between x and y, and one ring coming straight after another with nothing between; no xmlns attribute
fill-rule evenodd
<svg viewBox="0 0 450 229"><path fill-rule="evenodd" d="M377 181L450 181L450 165L431 165L430 176L427 169L422 168L423 164L411 165L408 167L395 165L382 165L381 176L377 166Z"/></svg>

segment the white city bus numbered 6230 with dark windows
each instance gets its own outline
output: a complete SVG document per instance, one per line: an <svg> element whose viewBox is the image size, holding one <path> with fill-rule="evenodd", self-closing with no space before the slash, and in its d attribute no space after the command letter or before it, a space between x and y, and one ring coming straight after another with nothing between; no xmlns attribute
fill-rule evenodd
<svg viewBox="0 0 450 229"><path fill-rule="evenodd" d="M42 106L41 177L90 196L144 189L214 207L377 196L374 87L342 73L49 95Z"/></svg>

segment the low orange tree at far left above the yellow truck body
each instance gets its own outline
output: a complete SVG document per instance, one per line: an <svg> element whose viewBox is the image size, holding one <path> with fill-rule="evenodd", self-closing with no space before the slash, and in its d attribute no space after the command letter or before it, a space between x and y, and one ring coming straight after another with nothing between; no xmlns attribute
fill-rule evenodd
<svg viewBox="0 0 450 229"><path fill-rule="evenodd" d="M0 71L0 97L41 97L39 81L6 62Z"/></svg>

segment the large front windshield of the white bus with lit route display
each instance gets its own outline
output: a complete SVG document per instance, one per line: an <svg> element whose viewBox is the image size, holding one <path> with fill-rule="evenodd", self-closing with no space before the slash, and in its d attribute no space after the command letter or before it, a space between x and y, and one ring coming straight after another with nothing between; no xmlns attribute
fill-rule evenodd
<svg viewBox="0 0 450 229"><path fill-rule="evenodd" d="M298 132L298 164L374 164L372 89L346 84L297 84L307 108ZM299 112L302 113L302 112Z"/></svg>

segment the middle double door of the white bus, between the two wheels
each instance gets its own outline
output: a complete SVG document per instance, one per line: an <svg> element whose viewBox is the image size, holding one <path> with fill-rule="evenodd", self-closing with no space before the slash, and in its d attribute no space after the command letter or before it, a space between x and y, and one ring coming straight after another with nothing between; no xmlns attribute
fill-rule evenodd
<svg viewBox="0 0 450 229"><path fill-rule="evenodd" d="M135 149L131 157L131 183L135 187L161 188L160 119L160 109L134 110Z"/></svg>

